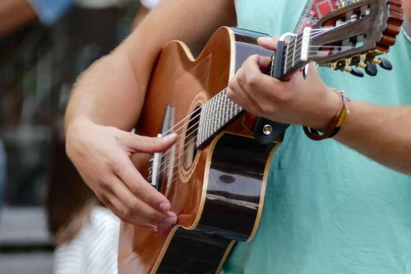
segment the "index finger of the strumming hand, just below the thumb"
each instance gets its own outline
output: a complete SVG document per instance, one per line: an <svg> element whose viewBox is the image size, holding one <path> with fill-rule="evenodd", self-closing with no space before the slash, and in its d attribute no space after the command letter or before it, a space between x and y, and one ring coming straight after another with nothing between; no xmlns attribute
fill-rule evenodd
<svg viewBox="0 0 411 274"><path fill-rule="evenodd" d="M169 212L171 209L169 200L142 177L127 156L123 155L121 159L119 168L114 172L127 185L129 190L154 208Z"/></svg>

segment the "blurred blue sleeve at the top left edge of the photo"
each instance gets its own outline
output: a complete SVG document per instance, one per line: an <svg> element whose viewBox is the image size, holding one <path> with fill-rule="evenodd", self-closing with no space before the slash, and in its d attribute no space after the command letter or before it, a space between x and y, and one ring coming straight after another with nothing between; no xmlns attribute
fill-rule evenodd
<svg viewBox="0 0 411 274"><path fill-rule="evenodd" d="M67 12L74 0L27 0L34 8L40 21L52 25Z"/></svg>

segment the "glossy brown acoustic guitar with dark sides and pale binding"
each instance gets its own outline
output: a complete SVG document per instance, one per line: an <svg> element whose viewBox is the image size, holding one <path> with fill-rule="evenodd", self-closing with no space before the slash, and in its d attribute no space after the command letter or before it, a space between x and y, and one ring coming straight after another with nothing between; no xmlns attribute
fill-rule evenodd
<svg viewBox="0 0 411 274"><path fill-rule="evenodd" d="M395 44L402 21L400 0L362 0L286 34L275 53L257 45L264 34L231 27L218 29L197 58L184 42L165 45L136 133L179 137L138 170L171 201L178 220L158 232L121 223L119 273L219 273L235 242L255 236L271 158L288 125L252 116L225 96L250 55L270 56L266 73L280 80L310 61L375 75L377 64L392 68L377 55Z"/></svg>

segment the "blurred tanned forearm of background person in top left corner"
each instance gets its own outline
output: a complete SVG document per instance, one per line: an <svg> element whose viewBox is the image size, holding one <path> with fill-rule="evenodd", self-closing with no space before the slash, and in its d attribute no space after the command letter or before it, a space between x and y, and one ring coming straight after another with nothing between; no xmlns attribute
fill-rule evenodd
<svg viewBox="0 0 411 274"><path fill-rule="evenodd" d="M0 37L37 18L32 5L26 0L0 1Z"/></svg>

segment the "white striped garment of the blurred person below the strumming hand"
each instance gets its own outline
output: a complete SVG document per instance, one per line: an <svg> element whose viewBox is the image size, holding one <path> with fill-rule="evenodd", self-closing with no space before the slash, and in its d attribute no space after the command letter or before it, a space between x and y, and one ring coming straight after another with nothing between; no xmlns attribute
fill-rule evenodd
<svg viewBox="0 0 411 274"><path fill-rule="evenodd" d="M54 274L117 274L120 220L110 210L96 207L90 223L55 250Z"/></svg>

